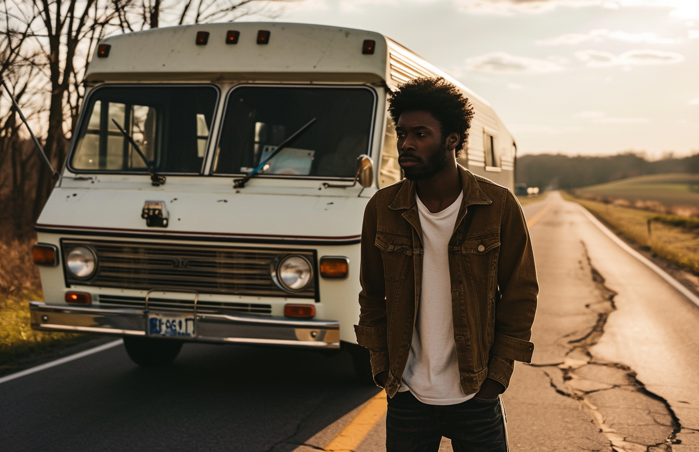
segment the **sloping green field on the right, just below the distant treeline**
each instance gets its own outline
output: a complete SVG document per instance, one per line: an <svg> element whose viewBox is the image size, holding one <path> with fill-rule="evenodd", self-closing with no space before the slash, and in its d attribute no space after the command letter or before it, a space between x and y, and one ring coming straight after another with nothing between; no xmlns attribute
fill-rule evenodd
<svg viewBox="0 0 699 452"><path fill-rule="evenodd" d="M699 208L699 174L672 173L629 177L574 190L586 198L656 201L665 206L684 205Z"/></svg>

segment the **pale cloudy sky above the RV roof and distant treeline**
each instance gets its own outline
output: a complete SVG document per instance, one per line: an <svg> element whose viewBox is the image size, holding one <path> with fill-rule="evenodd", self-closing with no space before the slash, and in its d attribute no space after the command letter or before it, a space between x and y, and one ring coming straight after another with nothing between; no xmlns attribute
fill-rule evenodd
<svg viewBox="0 0 699 452"><path fill-rule="evenodd" d="M489 101L520 155L699 152L699 0L302 0L275 20L393 38Z"/></svg>

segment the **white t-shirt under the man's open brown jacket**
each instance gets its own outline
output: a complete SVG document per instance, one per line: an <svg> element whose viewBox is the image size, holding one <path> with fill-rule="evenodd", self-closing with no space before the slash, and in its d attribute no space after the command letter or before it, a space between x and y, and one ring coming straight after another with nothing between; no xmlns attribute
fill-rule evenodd
<svg viewBox="0 0 699 452"><path fill-rule="evenodd" d="M452 205L437 213L430 212L417 194L415 198L424 246L422 289L408 364L398 391L410 391L417 400L431 405L466 402L473 394L466 395L461 389L447 254L463 191Z"/></svg>

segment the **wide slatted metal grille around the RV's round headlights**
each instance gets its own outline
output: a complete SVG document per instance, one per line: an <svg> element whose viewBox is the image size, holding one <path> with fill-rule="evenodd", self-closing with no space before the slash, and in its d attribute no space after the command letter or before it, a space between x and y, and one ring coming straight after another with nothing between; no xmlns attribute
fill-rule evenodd
<svg viewBox="0 0 699 452"><path fill-rule="evenodd" d="M298 293L283 291L274 284L270 275L270 265L275 257L299 254L315 263L313 250L62 240L64 265L66 256L78 245L94 251L97 270L93 277L84 280L73 277L64 268L68 286L140 290L180 288L194 289L199 293L316 298L315 268L313 280Z"/></svg>

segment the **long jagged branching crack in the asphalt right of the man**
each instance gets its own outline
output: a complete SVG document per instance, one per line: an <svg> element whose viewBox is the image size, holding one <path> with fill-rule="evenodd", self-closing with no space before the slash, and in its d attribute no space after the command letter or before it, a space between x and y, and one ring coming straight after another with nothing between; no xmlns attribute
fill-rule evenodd
<svg viewBox="0 0 699 452"><path fill-rule="evenodd" d="M682 424L679 418L677 418L675 411L670 407L670 403L656 393L649 391L642 381L637 379L636 372L627 365L596 361L590 353L591 347L597 344L605 333L605 324L610 314L617 310L617 306L614 304L614 296L617 296L617 292L605 285L605 278L592 265L585 242L581 241L581 243L591 272L592 281L599 293L599 300L597 302L589 303L585 306L587 309L591 309L593 312L597 313L596 322L584 335L576 339L568 340L567 343L570 344L570 349L565 353L565 360L563 360L563 362L538 364L533 365L533 367L557 367L561 371L561 374L549 373L547 371L544 371L544 374L549 379L551 387L554 388L556 393L567 398L578 400L590 411L600 432L609 440L612 451L672 452L672 444L680 444L682 442L677 438L677 434L682 430L691 429L682 428ZM581 268L583 268L582 261ZM584 371L591 370L594 367L605 367L608 370L613 370L611 375L607 375L607 377L611 377L612 380L616 379L617 381L605 381L604 378L587 379L584 375L586 372ZM596 395L603 396L605 395L605 391L614 389L634 391L637 394L643 395L644 398L647 398L647 406L652 408L655 404L656 408L658 408L658 405L662 407L663 412L659 413L659 416L657 416L658 412L651 408L647 409L644 415L647 416L649 422L670 430L668 435L653 444L642 444L642 442L638 442L638 439L631 441L628 436L620 435L616 429L612 428L610 421L603 415L602 411L604 411L605 407L600 409L593 403L593 400L591 400L595 398ZM624 411L624 414L626 414L626 411ZM660 417L660 419L658 417ZM665 422L661 419L663 417L666 417Z"/></svg>

